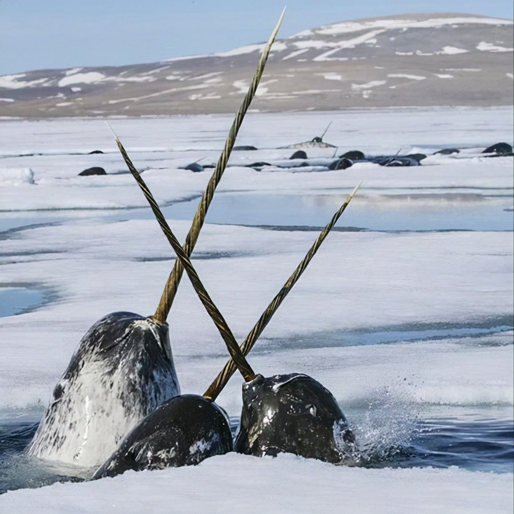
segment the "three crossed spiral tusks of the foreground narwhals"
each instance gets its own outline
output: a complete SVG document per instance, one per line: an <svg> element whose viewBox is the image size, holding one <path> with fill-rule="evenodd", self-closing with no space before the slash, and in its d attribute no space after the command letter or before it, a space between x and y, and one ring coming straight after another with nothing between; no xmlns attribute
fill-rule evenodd
<svg viewBox="0 0 514 514"><path fill-rule="evenodd" d="M297 283L301 274L305 271L305 268L318 251L318 248L321 246L321 243L323 243L325 237L337 223L339 217L344 212L347 205L350 203L351 199L354 197L355 193L357 192L357 189L360 186L359 184L352 191L352 193L346 198L344 203L338 209L338 211L334 214L331 221L321 231L317 240L310 247L309 251L302 259L300 264L297 266L295 271L293 271L291 276L287 279L282 289L270 302L262 316L259 318L258 322L255 323L254 327L251 329L248 336L246 336L246 339L243 341L240 347L237 344L237 341L235 340L235 337L232 334L232 331L230 330L224 317L212 301L204 285L201 283L198 277L198 273L196 272L191 263L190 256L193 252L194 246L198 239L200 229L204 224L205 217L207 215L207 210L211 203L212 197L214 196L214 191L216 190L219 180L221 179L223 172L225 171L225 168L227 166L227 162L230 157L232 147L234 146L237 132L239 131L241 124L243 123L243 118L250 105L250 102L252 101L255 95L255 91L259 85L259 81L261 80L264 71L264 66L266 65L266 61L269 56L271 45L273 44L273 41L276 38L276 35L279 31L280 25L282 23L282 18L284 17L284 12L285 8L282 11L277 26L273 29L273 32L271 33L271 36L266 44L266 47L262 52L261 58L257 65L257 69L255 70L255 75L253 76L253 81L248 89L248 92L243 100L243 103L241 104L240 108L237 111L237 114L235 115L235 119L232 123L232 126L230 127L227 140L225 141L225 147L221 155L219 156L218 162L216 164L216 167L214 168L214 172L209 180L207 188L203 196L201 197L200 203L193 218L191 228L189 230L188 235L186 236L186 241L183 244L183 246L180 245L174 233L172 232L170 226L164 218L164 215L159 209L159 206L157 205L155 198L146 186L144 180L141 178L139 172L134 167L132 160L130 159L130 157L128 157L128 154L124 146L121 144L121 141L119 140L118 136L114 132L111 125L107 123L109 125L109 128L111 128L111 130L113 131L116 143L118 144L118 148L121 152L121 155L123 156L123 159L127 164L128 169L136 179L138 186L140 187L144 196L148 200L148 203L150 204L150 207L152 208L152 211L155 217L157 218L157 221L162 231L164 232L164 235L166 235L166 237L168 238L168 241L170 242L171 246L173 247L173 250L175 251L178 257L178 259L175 261L175 265L173 266L168 281L166 282L166 286L164 287L161 299L159 301L159 305L157 306L153 318L160 323L166 323L166 319L168 317L173 300L175 298L175 294L178 289L178 284L180 283L180 279L182 278L182 273L184 270L186 270L186 273L188 274L188 277L191 280L191 283L194 287L194 290L196 291L196 294L198 295L198 298L200 299L201 303L204 304L204 307L206 308L209 316L214 321L214 324L216 325L219 333L225 341L225 344L227 345L228 351L230 353L231 360L229 360L225 364L223 370L217 375L217 377L214 379L214 381L209 386L207 391L204 393L204 397L211 401L214 401L219 395L219 393L222 392L229 378L234 374L236 369L238 369L241 372L246 382L249 382L250 380L253 380L256 377L255 372L252 370L245 356L248 355L253 345L255 344L255 341L262 334L264 328L267 326L273 315L276 313L284 298L287 296L292 287Z"/></svg>

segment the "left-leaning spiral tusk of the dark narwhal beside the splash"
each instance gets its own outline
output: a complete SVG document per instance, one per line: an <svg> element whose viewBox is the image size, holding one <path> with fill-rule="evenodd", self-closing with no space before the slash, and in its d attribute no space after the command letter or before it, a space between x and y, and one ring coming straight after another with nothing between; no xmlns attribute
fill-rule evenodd
<svg viewBox="0 0 514 514"><path fill-rule="evenodd" d="M148 203L150 204L150 207L152 208L152 211L154 212L155 217L157 218L157 221L159 222L159 225L162 231L164 232L164 235L166 235L166 237L168 238L168 241L175 250L178 259L182 263L183 268L186 270L186 273L188 274L189 279L193 284L194 290L196 291L198 298L200 299L201 303L204 304L207 312L209 313L209 316L214 321L219 333L225 341L225 344L227 345L232 360L236 362L237 369L240 370L246 382L253 380L256 375L251 369L250 364L248 364L245 356L242 354L241 349L237 344L234 335L232 334L229 326L227 325L227 322L225 321L222 314L219 312L218 308L212 301L204 285L201 283L198 274L196 273L196 270L191 264L189 256L180 246L180 243L175 237L175 234L172 232L170 226L168 225L168 222L164 218L164 215L162 214L161 210L159 209L159 206L157 205L155 198L146 186L144 180L141 178L139 172L134 167L132 160L130 159L130 157L128 157L125 148L121 144L121 141L119 140L111 125L109 125L109 128L111 128L111 130L113 131L114 137L116 139L116 144L118 145L118 148L121 152L121 155L123 156L123 159L127 164L128 169L132 173L132 176L136 179L138 186L141 188L141 191L148 200Z"/></svg>

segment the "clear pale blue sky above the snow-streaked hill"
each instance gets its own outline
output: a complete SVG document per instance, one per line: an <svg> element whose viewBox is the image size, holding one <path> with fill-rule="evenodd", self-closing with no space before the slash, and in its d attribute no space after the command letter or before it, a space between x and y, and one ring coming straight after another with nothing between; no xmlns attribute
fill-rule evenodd
<svg viewBox="0 0 514 514"><path fill-rule="evenodd" d="M512 19L511 0L0 0L0 75L226 51L344 20L419 12Z"/></svg>

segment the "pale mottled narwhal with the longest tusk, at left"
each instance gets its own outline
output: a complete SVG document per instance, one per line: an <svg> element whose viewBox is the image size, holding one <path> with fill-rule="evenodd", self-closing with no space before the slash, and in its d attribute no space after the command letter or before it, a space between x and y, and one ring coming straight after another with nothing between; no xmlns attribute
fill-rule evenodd
<svg viewBox="0 0 514 514"><path fill-rule="evenodd" d="M238 109L184 244L191 255L237 132L255 95L282 15ZM179 260L152 316L117 312L97 321L82 338L30 445L29 454L81 466L99 466L120 440L163 401L180 393L168 314L182 277Z"/></svg>

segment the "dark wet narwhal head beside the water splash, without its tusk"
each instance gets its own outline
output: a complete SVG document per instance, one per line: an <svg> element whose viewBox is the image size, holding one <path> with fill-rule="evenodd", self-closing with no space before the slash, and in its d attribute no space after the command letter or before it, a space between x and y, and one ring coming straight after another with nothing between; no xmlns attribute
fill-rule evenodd
<svg viewBox="0 0 514 514"><path fill-rule="evenodd" d="M234 449L256 456L294 453L344 462L354 436L328 389L301 373L263 377L243 385L243 411Z"/></svg>

